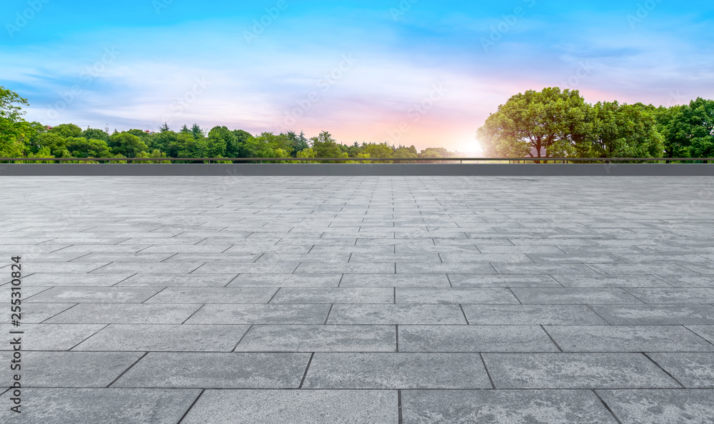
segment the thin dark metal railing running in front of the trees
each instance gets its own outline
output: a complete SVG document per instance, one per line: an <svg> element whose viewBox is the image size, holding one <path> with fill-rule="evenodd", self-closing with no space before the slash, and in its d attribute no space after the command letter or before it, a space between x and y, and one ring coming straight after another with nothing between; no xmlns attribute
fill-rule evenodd
<svg viewBox="0 0 714 424"><path fill-rule="evenodd" d="M0 158L0 162L506 162L521 163L578 163L578 162L703 162L710 163L714 158Z"/></svg>

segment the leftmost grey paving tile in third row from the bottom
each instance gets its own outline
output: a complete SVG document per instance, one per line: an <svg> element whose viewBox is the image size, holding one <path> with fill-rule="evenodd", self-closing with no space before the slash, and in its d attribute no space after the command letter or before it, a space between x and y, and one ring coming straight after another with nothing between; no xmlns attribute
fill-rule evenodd
<svg viewBox="0 0 714 424"><path fill-rule="evenodd" d="M23 350L70 350L74 345L104 328L104 325L88 324L22 324L21 328L10 324L0 324L0 331L9 335L10 331L24 331ZM0 350L13 350L8 343L0 345Z"/></svg>

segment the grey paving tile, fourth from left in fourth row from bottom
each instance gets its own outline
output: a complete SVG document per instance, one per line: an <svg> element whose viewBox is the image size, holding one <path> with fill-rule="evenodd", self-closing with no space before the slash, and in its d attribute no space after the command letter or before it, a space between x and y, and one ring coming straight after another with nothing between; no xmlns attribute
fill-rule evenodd
<svg viewBox="0 0 714 424"><path fill-rule="evenodd" d="M334 305L328 324L466 324L457 305Z"/></svg>

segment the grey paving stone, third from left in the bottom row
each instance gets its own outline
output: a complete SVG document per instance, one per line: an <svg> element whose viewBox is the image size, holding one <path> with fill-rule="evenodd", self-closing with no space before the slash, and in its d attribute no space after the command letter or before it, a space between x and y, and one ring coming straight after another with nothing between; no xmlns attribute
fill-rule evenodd
<svg viewBox="0 0 714 424"><path fill-rule="evenodd" d="M403 390L404 424L615 424L590 390Z"/></svg>

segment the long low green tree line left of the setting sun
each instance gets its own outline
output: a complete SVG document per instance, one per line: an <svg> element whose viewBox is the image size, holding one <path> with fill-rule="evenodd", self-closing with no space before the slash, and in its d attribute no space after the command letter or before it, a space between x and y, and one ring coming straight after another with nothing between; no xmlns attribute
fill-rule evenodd
<svg viewBox="0 0 714 424"><path fill-rule="evenodd" d="M0 87L0 157L4 158L448 158L456 153L446 148L426 148L388 143L346 145L323 131L307 138L305 133L288 131L252 135L243 130L215 126L206 131L197 124L172 131L164 123L157 132L139 129L109 134L99 128L82 129L72 123L47 127L25 121L21 106L26 99ZM119 161L122 163L123 161Z"/></svg>

